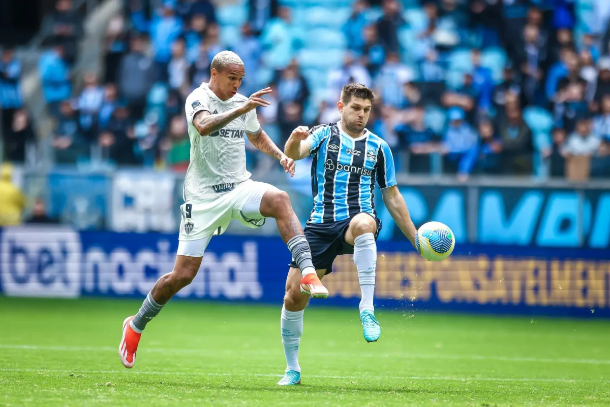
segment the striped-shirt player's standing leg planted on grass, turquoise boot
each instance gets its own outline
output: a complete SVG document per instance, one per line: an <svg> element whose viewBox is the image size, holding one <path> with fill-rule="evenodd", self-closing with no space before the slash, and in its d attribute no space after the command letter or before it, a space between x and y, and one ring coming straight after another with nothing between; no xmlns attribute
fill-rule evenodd
<svg viewBox="0 0 610 407"><path fill-rule="evenodd" d="M326 270L317 270L322 278ZM309 297L301 294L301 271L290 267L286 279L286 294L282 306L280 327L284 356L286 357L286 370L284 377L278 382L280 386L291 386L301 383L301 366L299 366L299 344L303 335L303 313Z"/></svg>

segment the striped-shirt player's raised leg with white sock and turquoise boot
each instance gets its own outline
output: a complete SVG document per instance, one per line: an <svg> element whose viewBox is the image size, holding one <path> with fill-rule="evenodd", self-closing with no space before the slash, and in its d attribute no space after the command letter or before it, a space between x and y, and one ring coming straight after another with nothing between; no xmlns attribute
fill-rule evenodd
<svg viewBox="0 0 610 407"><path fill-rule="evenodd" d="M377 265L376 230L375 218L367 213L359 213L351 220L350 226L345 232L345 241L354 246L354 263L358 271L362 294L360 300L362 334L367 342L375 342L381 336L381 327L375 318L375 307L373 306L375 267Z"/></svg>

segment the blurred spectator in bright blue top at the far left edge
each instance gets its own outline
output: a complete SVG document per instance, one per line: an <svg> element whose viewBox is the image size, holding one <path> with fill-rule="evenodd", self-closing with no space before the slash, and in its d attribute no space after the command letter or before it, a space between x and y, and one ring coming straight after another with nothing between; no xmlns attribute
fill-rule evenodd
<svg viewBox="0 0 610 407"><path fill-rule="evenodd" d="M0 121L2 133L12 131L15 111L23 107L20 89L21 63L15 59L15 51L6 47L0 54Z"/></svg>

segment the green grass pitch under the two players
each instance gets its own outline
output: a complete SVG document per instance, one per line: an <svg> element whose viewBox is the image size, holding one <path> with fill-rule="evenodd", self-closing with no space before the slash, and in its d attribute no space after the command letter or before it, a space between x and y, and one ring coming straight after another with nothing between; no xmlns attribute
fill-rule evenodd
<svg viewBox="0 0 610 407"><path fill-rule="evenodd" d="M379 308L381 339L367 344L357 309L312 307L303 384L280 388L280 305L171 302L127 370L121 324L140 303L0 297L0 406L610 403L607 321Z"/></svg>

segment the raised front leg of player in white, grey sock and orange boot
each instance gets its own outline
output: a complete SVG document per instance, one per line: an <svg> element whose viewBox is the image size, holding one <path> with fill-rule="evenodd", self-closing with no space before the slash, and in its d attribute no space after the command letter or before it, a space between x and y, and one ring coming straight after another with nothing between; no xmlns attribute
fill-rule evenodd
<svg viewBox="0 0 610 407"><path fill-rule="evenodd" d="M265 218L275 218L278 223L279 234L301 271L301 293L313 298L328 297L328 290L315 273L309 243L303 234L301 222L292 209L288 194L277 188L269 189L260 202L260 214Z"/></svg>

